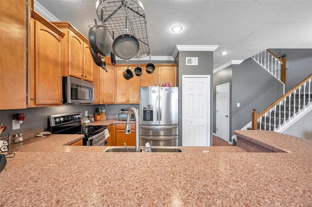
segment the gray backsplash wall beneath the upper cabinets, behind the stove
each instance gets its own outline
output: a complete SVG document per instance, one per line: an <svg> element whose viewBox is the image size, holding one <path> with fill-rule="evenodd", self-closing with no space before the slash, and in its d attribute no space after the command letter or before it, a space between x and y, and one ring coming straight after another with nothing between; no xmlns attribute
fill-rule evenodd
<svg viewBox="0 0 312 207"><path fill-rule="evenodd" d="M44 127L47 129L47 117L56 114L66 114L73 112L81 112L84 115L87 110L89 114L94 114L96 108L101 106L105 107L105 113L107 116L116 115L121 108L135 107L139 108L138 104L113 104L113 105L75 105L68 104L63 106L52 107L39 107L39 108L27 108L27 109L14 109L14 110L0 110L0 122L6 125L7 129L1 133L1 137L9 134L18 134L26 131L38 129ZM13 116L17 113L25 113L25 120L20 124L20 129L12 130ZM14 118L15 119L15 118Z"/></svg>

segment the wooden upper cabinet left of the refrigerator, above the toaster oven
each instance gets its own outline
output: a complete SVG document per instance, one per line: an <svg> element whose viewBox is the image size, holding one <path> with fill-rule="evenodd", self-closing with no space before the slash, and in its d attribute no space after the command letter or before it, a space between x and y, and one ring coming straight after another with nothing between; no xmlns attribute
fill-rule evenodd
<svg viewBox="0 0 312 207"><path fill-rule="evenodd" d="M139 103L140 78L135 75L136 67L137 64L129 65L134 77L126 80L122 73L127 69L127 65L116 65L116 104Z"/></svg>

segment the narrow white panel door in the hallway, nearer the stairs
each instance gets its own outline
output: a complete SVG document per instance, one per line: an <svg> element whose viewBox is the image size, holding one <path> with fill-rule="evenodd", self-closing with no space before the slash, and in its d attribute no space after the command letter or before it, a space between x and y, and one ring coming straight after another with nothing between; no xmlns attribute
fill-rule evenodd
<svg viewBox="0 0 312 207"><path fill-rule="evenodd" d="M229 142L230 83L216 86L216 136Z"/></svg>

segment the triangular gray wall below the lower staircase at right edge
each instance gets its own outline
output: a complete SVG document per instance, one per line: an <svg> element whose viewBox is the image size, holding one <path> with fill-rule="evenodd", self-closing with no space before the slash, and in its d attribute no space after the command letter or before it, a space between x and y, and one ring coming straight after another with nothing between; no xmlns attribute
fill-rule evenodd
<svg viewBox="0 0 312 207"><path fill-rule="evenodd" d="M312 140L312 110L293 123L283 134Z"/></svg>

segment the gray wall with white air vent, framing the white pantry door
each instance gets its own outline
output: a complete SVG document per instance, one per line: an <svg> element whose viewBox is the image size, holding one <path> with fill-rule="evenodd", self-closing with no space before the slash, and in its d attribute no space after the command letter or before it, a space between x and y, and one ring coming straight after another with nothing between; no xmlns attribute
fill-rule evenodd
<svg viewBox="0 0 312 207"><path fill-rule="evenodd" d="M182 145L182 75L210 75L210 142L213 143L213 52L194 52L194 51L180 51L176 57L177 64L177 86L179 86L179 145ZM186 57L198 57L197 66L186 66Z"/></svg>

